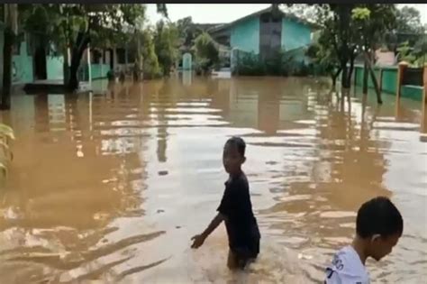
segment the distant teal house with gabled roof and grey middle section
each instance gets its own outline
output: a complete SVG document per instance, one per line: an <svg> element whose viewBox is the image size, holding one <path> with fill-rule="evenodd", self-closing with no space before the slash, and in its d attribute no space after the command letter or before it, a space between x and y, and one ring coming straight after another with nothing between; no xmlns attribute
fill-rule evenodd
<svg viewBox="0 0 427 284"><path fill-rule="evenodd" d="M215 41L231 49L268 58L278 50L304 49L313 41L315 30L314 23L269 7L232 23L215 26L208 32Z"/></svg>

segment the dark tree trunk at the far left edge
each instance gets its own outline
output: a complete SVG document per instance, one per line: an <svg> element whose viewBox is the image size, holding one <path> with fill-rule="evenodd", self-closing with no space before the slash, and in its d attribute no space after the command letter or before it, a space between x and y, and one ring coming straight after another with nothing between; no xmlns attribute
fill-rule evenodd
<svg viewBox="0 0 427 284"><path fill-rule="evenodd" d="M14 33L10 27L5 28L5 42L3 47L3 90L0 109L11 108L12 93L12 48L14 46Z"/></svg>

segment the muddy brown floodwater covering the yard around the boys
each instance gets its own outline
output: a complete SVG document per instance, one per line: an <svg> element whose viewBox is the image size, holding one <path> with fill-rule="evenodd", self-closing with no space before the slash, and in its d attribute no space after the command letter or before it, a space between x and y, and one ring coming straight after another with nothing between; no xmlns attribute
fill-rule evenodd
<svg viewBox="0 0 427 284"><path fill-rule="evenodd" d="M0 283L320 283L360 204L378 195L405 223L394 252L368 261L373 283L426 279L421 102L341 100L308 78L94 85L14 96L2 114L17 140L0 191ZM262 234L241 273L226 268L223 225L189 248L223 195L231 135L248 144Z"/></svg>

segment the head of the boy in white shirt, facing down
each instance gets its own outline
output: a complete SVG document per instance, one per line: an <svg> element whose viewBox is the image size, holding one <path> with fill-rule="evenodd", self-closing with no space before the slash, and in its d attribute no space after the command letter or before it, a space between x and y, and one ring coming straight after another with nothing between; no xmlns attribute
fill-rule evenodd
<svg viewBox="0 0 427 284"><path fill-rule="evenodd" d="M402 215L387 197L375 197L360 206L356 233L365 241L368 256L376 261L392 252L403 231Z"/></svg>

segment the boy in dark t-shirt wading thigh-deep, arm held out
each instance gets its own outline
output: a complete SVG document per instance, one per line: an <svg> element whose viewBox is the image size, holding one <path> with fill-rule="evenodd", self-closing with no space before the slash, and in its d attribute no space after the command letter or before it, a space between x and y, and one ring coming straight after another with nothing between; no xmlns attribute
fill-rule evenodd
<svg viewBox="0 0 427 284"><path fill-rule="evenodd" d="M244 269L259 254L259 228L252 212L248 179L241 170L245 162L246 144L240 137L232 137L223 148L223 167L230 175L225 182L218 214L202 234L195 235L192 248L197 249L216 227L225 222L229 240L227 266Z"/></svg>

